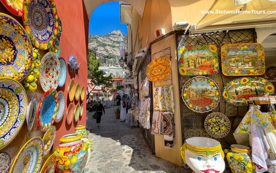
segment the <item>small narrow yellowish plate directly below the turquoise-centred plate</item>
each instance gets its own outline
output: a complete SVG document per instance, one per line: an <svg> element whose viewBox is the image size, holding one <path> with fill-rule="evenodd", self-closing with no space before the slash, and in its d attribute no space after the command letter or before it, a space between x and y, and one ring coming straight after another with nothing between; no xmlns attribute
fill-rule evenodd
<svg viewBox="0 0 276 173"><path fill-rule="evenodd" d="M48 152L51 150L55 141L56 131L56 126L52 125L44 134L42 138L44 144L44 155L47 155Z"/></svg>

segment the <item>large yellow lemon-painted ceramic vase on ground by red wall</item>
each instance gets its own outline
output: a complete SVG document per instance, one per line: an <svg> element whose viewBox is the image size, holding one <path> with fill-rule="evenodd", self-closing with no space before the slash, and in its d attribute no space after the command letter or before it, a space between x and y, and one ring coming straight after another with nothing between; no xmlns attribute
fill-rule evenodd
<svg viewBox="0 0 276 173"><path fill-rule="evenodd" d="M81 140L80 134L67 134L59 140L54 154L57 156L56 173L82 173L88 158L87 143Z"/></svg>

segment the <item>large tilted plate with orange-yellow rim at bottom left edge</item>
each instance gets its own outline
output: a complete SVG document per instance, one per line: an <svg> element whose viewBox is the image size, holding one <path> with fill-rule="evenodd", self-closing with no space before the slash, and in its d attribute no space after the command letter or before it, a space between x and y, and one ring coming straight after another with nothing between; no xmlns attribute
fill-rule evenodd
<svg viewBox="0 0 276 173"><path fill-rule="evenodd" d="M24 144L17 154L10 173L39 172L43 159L43 141L34 137Z"/></svg>

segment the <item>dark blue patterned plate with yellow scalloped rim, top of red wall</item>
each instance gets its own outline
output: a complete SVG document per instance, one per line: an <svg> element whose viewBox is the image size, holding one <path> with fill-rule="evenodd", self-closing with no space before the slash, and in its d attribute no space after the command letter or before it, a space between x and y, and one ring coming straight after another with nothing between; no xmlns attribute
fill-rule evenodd
<svg viewBox="0 0 276 173"><path fill-rule="evenodd" d="M40 50L49 49L58 34L58 14L54 1L25 1L23 9L23 24L33 45Z"/></svg>

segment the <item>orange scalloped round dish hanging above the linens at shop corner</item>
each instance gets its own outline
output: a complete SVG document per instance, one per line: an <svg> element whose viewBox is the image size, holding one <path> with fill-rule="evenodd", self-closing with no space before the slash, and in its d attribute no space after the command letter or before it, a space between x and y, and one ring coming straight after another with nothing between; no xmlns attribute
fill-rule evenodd
<svg viewBox="0 0 276 173"><path fill-rule="evenodd" d="M147 66L146 75L149 81L163 81L171 73L171 61L168 58L160 57Z"/></svg>

